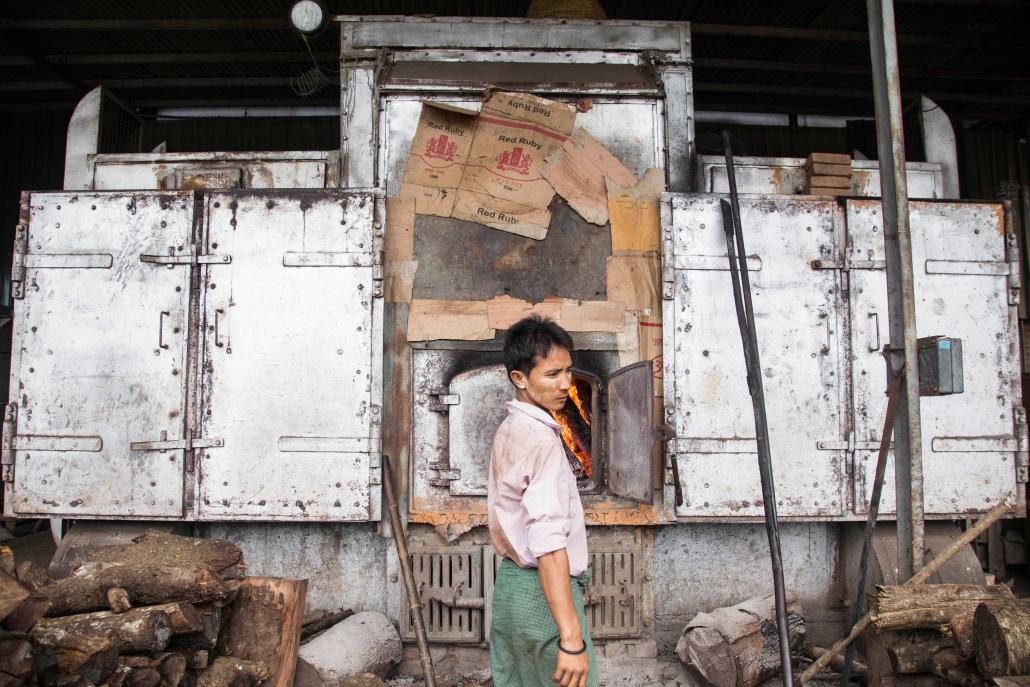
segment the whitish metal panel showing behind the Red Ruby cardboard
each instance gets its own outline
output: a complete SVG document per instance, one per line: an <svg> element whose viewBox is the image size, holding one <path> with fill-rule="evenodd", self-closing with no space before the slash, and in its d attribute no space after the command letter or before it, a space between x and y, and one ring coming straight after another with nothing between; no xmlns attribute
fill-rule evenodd
<svg viewBox="0 0 1030 687"><path fill-rule="evenodd" d="M471 110L478 110L482 104L478 99L441 98L439 101ZM417 94L385 99L382 136L385 149L381 153L384 167L380 174L385 174L387 196L396 196L401 191L421 107L421 96ZM654 99L594 101L589 112L576 115L576 124L586 129L638 177L652 167L662 166L662 111Z"/></svg>

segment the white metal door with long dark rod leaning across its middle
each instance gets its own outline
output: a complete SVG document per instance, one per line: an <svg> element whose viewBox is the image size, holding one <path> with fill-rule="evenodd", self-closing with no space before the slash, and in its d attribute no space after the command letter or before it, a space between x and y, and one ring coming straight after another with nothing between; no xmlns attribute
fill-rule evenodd
<svg viewBox="0 0 1030 687"><path fill-rule="evenodd" d="M679 517L761 516L754 416L719 198L664 201L665 409L677 439ZM832 201L744 198L742 222L768 411L779 513L845 511L839 254Z"/></svg>

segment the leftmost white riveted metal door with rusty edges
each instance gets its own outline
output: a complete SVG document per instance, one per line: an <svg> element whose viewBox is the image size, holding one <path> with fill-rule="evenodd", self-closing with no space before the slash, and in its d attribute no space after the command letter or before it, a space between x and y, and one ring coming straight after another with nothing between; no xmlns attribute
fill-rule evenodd
<svg viewBox="0 0 1030 687"><path fill-rule="evenodd" d="M131 445L183 439L190 268L140 256L190 253L193 196L48 193L29 203L7 512L181 516L183 451Z"/></svg>

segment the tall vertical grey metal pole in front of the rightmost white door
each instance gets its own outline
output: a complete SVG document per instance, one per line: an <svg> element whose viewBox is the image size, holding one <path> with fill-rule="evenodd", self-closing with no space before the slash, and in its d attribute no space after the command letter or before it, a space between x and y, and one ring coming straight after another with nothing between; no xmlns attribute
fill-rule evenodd
<svg viewBox="0 0 1030 687"><path fill-rule="evenodd" d="M894 480L897 491L898 581L923 566L923 443L919 415L919 368L916 349L916 295L908 231L901 87L893 0L866 0L869 54L877 107L877 148L887 257L887 305L890 316L891 368L904 369L894 432Z"/></svg>

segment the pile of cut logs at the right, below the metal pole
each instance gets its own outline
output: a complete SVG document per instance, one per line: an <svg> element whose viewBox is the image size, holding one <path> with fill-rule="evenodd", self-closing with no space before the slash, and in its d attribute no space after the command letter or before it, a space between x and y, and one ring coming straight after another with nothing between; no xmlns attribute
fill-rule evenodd
<svg viewBox="0 0 1030 687"><path fill-rule="evenodd" d="M1030 675L1030 599L1004 585L879 586L873 625L897 675L962 687Z"/></svg>

